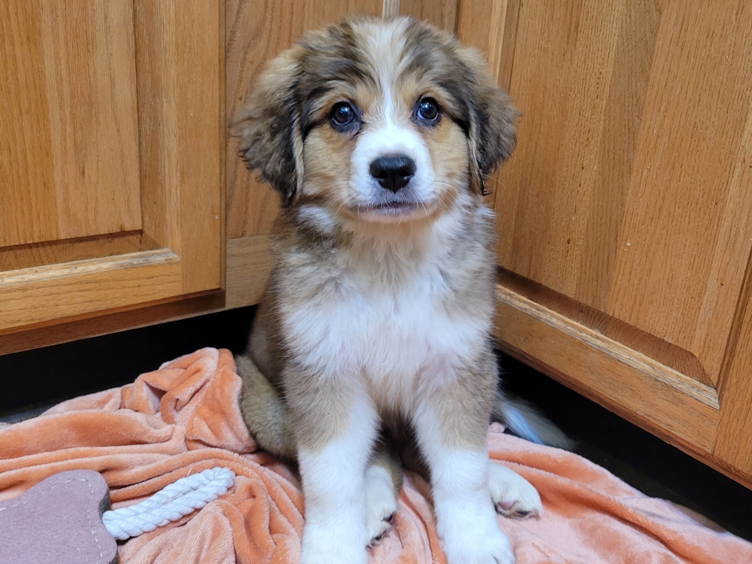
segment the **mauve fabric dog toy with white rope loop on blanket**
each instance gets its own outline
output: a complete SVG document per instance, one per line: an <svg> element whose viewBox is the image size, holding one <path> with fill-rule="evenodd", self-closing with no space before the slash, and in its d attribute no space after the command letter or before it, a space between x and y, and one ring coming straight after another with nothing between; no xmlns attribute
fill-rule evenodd
<svg viewBox="0 0 752 564"><path fill-rule="evenodd" d="M234 479L229 468L207 468L110 511L110 490L99 472L60 472L0 502L0 562L117 564L116 538L178 520L223 496Z"/></svg>

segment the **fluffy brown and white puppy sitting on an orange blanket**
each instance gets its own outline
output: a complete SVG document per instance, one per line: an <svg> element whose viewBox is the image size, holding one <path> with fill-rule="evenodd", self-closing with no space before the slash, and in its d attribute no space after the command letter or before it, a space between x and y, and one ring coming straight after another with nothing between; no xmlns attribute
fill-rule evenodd
<svg viewBox="0 0 752 564"><path fill-rule="evenodd" d="M538 493L488 458L496 268L484 179L518 112L480 53L408 18L308 32L256 81L234 130L280 194L268 280L238 357L262 447L296 459L303 564L365 564L403 463L432 485L449 564L514 562L496 523Z"/></svg>

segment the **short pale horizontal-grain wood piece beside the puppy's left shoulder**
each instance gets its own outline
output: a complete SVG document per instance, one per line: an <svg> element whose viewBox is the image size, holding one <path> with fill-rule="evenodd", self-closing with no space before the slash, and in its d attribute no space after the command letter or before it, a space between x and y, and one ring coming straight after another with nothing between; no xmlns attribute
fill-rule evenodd
<svg viewBox="0 0 752 564"><path fill-rule="evenodd" d="M227 241L226 307L259 303L271 271L267 235Z"/></svg>

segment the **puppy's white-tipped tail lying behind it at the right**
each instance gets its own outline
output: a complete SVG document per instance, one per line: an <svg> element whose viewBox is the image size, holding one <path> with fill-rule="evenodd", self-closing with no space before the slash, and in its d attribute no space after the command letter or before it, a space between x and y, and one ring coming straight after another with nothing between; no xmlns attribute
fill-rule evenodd
<svg viewBox="0 0 752 564"><path fill-rule="evenodd" d="M549 447L573 450L575 443L547 417L521 399L496 394L491 420L503 423L512 435Z"/></svg>

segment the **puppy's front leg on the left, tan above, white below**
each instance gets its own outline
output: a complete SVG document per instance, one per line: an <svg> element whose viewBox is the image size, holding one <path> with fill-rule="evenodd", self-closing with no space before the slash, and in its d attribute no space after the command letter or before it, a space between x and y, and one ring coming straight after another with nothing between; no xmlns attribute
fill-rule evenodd
<svg viewBox="0 0 752 564"><path fill-rule="evenodd" d="M365 564L365 468L378 430L373 402L338 378L284 378L305 496L302 564Z"/></svg>

